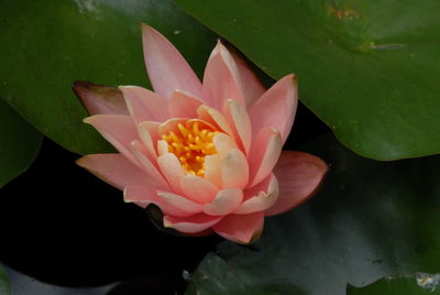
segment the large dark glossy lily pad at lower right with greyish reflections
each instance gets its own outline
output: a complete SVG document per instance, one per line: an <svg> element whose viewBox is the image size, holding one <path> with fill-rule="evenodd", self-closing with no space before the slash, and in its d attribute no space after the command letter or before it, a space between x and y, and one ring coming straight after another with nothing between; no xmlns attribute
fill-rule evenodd
<svg viewBox="0 0 440 295"><path fill-rule="evenodd" d="M305 151L330 164L318 195L267 218L253 247L222 242L188 294L340 295L348 283L440 271L440 156L376 162L328 136Z"/></svg>

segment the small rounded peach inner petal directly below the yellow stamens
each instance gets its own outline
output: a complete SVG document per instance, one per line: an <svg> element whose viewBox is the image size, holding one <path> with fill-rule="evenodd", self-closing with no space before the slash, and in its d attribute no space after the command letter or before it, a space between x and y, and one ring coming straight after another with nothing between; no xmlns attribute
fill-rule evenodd
<svg viewBox="0 0 440 295"><path fill-rule="evenodd" d="M211 201L219 190L211 182L193 174L180 178L180 187L188 199L198 204Z"/></svg>

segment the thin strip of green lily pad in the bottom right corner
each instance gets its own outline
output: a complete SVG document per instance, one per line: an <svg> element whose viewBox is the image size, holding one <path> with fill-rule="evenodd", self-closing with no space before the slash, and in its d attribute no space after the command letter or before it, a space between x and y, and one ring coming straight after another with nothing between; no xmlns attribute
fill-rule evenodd
<svg viewBox="0 0 440 295"><path fill-rule="evenodd" d="M440 294L439 275L417 274L417 275L393 275L381 278L371 285L358 288L349 285L348 295L428 295Z"/></svg>

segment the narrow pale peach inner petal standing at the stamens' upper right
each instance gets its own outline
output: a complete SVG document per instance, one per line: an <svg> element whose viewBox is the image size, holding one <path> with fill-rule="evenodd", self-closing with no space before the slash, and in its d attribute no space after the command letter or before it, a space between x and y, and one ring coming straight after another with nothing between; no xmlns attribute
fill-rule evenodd
<svg viewBox="0 0 440 295"><path fill-rule="evenodd" d="M224 100L223 113L232 125L235 141L240 142L243 151L249 154L251 148L251 120L244 106L232 99Z"/></svg>

